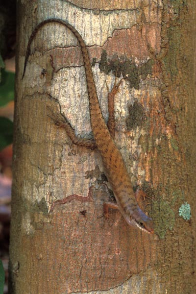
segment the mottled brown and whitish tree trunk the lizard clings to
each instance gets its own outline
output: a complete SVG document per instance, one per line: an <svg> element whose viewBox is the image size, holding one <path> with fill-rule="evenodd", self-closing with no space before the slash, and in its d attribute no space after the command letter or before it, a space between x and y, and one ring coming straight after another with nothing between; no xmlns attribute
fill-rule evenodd
<svg viewBox="0 0 196 294"><path fill-rule="evenodd" d="M195 27L192 18L188 20L191 11L196 12L193 2L19 4L11 294L193 293L195 216L185 221L178 214L185 202L192 214L196 208L191 177L196 163L194 79L189 78L189 72L195 77ZM154 236L129 227L119 212L112 212L113 223L104 223L100 216L110 187L98 152L74 146L48 116L47 106L61 110L76 134L91 137L83 60L73 34L58 24L43 27L21 80L33 28L54 17L72 24L91 59L96 58L92 68L106 120L107 86L112 88L120 65L123 73L135 65L115 98L115 141L133 186L149 192L141 205L153 217ZM180 41L173 49L174 38ZM191 61L188 70L184 56ZM113 72L107 71L108 65ZM90 201L73 200L49 213L54 200L70 195L89 196Z"/></svg>

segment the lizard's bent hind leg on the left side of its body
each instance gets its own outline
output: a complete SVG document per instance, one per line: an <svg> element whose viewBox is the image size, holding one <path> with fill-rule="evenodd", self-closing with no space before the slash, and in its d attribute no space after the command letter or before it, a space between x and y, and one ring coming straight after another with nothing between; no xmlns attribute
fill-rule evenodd
<svg viewBox="0 0 196 294"><path fill-rule="evenodd" d="M67 121L67 119L60 113L55 112L48 106L47 107L50 114L48 114L49 118L59 127L62 127L66 130L66 133L70 137L73 144L81 147L86 147L89 149L96 149L96 144L93 139L79 138L75 136L75 132L71 124Z"/></svg>

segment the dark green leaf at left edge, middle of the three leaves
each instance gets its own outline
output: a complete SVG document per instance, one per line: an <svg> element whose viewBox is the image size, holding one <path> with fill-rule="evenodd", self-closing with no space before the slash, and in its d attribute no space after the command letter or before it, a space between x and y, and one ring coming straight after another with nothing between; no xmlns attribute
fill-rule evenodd
<svg viewBox="0 0 196 294"><path fill-rule="evenodd" d="M0 150L13 142L13 123L0 117Z"/></svg>

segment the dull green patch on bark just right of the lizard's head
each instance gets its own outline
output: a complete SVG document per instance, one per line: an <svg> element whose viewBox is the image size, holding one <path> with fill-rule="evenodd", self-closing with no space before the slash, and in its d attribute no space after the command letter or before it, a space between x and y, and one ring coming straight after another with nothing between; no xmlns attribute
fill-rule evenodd
<svg viewBox="0 0 196 294"><path fill-rule="evenodd" d="M160 239L165 237L168 230L172 230L175 222L175 215L170 203L161 199L152 202L152 219L154 229Z"/></svg>

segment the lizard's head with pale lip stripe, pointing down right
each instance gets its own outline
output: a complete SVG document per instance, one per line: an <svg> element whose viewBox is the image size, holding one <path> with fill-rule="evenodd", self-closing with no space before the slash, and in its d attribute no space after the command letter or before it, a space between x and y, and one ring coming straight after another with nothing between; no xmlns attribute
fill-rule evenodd
<svg viewBox="0 0 196 294"><path fill-rule="evenodd" d="M154 228L153 228L153 221L151 218L149 218L139 207L136 211L132 212L129 215L129 219L126 218L126 221L141 229L142 231L153 234Z"/></svg>

